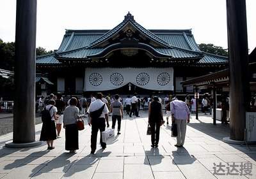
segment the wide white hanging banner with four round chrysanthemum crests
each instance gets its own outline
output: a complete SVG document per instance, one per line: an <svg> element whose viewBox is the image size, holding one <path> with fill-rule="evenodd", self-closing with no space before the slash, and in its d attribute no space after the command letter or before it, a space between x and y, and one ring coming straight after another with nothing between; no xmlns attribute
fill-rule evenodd
<svg viewBox="0 0 256 179"><path fill-rule="evenodd" d="M173 90L173 68L86 68L84 91L113 90L132 83L149 90Z"/></svg>

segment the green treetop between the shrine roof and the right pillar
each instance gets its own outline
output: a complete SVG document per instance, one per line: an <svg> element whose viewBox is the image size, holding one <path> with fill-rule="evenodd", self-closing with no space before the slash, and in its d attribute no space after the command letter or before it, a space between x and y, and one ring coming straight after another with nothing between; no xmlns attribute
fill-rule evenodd
<svg viewBox="0 0 256 179"><path fill-rule="evenodd" d="M200 43L198 45L198 48L201 51L208 52L210 54L221 55L221 56L226 56L226 57L228 56L227 49L225 49L223 47L215 46L212 43L209 43L209 44Z"/></svg>

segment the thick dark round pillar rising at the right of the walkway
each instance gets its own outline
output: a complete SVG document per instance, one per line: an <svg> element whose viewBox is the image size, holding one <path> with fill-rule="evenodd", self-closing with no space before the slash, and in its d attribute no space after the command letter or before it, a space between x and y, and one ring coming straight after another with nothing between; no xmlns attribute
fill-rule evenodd
<svg viewBox="0 0 256 179"><path fill-rule="evenodd" d="M250 95L246 1L227 0L228 54L230 68L230 139L243 141L245 113Z"/></svg>

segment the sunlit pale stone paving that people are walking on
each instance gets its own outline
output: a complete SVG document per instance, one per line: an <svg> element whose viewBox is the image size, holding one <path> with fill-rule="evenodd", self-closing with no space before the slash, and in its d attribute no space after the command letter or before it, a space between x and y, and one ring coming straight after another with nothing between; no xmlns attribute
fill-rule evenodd
<svg viewBox="0 0 256 179"><path fill-rule="evenodd" d="M36 125L36 139L42 124ZM256 147L241 147L223 143L228 136L227 125L212 125L208 116L193 116L187 127L184 148L176 148L170 126L161 127L158 148L150 147L146 135L147 117L125 117L122 134L108 144L106 150L97 147L90 155L90 127L79 132L79 150L76 154L65 151L65 129L54 142L55 149L47 145L33 148L5 148L12 133L0 137L0 178L93 178L93 179L163 179L163 178L256 178ZM223 164L225 175L214 175L214 163ZM233 162L237 166L232 168ZM241 164L252 164L252 175L243 175ZM230 164L230 166L228 166ZM220 169L220 168L217 168ZM236 169L238 171L236 171ZM242 173L243 172L243 173ZM228 173L237 175L227 175Z"/></svg>

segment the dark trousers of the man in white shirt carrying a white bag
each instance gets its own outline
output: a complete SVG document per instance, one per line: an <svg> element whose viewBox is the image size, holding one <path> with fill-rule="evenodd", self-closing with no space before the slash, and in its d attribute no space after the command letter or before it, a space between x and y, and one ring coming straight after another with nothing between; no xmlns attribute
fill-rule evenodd
<svg viewBox="0 0 256 179"><path fill-rule="evenodd" d="M91 136L91 148L94 152L97 147L97 134L100 130L100 145L101 147L106 147L106 143L102 142L101 132L105 131L105 118L96 118L92 120L92 136Z"/></svg>

